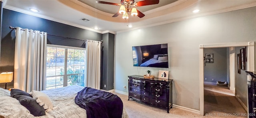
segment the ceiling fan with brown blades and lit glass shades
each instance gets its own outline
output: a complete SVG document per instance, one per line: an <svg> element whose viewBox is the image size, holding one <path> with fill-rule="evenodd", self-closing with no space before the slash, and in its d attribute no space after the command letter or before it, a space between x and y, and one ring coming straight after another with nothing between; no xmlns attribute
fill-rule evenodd
<svg viewBox="0 0 256 118"><path fill-rule="evenodd" d="M117 17L122 14L122 18L126 20L129 18L129 14L130 16L133 16L133 17L134 16L138 16L140 18L144 17L145 14L137 10L135 7L158 4L159 0L142 0L138 2L134 2L134 0L121 0L121 4L96 0L96 3L120 6L119 11L116 14L114 14L112 17Z"/></svg>

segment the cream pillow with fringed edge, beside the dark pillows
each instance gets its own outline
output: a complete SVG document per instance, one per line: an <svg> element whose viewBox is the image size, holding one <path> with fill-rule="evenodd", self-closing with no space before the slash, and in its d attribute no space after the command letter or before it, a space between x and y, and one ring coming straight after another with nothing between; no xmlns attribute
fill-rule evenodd
<svg viewBox="0 0 256 118"><path fill-rule="evenodd" d="M34 99L36 99L36 102L43 106L43 108L46 110L46 112L50 112L53 108L52 100L43 92L32 90L30 92Z"/></svg>

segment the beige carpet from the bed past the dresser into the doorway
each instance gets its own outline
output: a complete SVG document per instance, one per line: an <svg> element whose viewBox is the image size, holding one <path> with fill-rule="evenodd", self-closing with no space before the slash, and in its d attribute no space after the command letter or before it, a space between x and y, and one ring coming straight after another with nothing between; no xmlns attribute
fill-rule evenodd
<svg viewBox="0 0 256 118"><path fill-rule="evenodd" d="M141 104L131 99L128 100L128 96L123 94L116 92L114 92L114 94L117 94L122 99L129 118L246 118L246 116L242 117L241 114L241 117L234 116L235 114L228 114L246 113L235 96L220 94L209 90L205 90L204 105L205 112L212 116L200 116L179 108L172 108L168 114L164 109Z"/></svg>

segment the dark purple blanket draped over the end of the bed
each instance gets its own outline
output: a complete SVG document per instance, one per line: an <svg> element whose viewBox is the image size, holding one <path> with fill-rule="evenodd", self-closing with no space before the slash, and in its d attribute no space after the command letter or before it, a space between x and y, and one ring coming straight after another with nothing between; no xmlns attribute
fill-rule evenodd
<svg viewBox="0 0 256 118"><path fill-rule="evenodd" d="M87 118L122 118L123 102L110 92L85 87L77 93L75 103L86 110Z"/></svg>

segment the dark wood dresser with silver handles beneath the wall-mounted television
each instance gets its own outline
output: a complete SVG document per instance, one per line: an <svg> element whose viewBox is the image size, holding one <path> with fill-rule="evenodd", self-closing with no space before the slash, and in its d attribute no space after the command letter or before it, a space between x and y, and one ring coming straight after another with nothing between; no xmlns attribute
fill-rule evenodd
<svg viewBox="0 0 256 118"><path fill-rule="evenodd" d="M172 108L172 79L147 79L140 75L128 76L128 100L164 108L169 113Z"/></svg>

